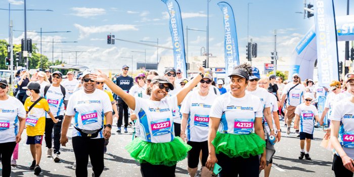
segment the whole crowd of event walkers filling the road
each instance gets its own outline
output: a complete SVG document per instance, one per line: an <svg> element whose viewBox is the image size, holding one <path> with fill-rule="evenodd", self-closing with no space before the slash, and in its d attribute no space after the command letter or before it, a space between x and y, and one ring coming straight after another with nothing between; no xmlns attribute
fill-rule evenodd
<svg viewBox="0 0 354 177"><path fill-rule="evenodd" d="M259 176L261 170L268 177L284 120L283 132L295 131L298 158L306 160L311 160L315 127L328 126L324 141L333 151L332 170L335 176L353 176L354 73L319 86L296 73L288 80L261 77L248 64L234 68L225 80L216 80L203 67L190 79L175 68L134 78L128 66L121 68L114 78L100 70L85 70L77 77L69 71L63 78L60 71L38 69L30 76L21 68L12 88L0 78L2 175L10 176L11 165L17 165L25 129L33 158L28 168L34 174L41 172L44 138L46 157L54 163L61 160L61 146L71 143L76 176L87 176L89 157L90 175L100 176L109 139L114 138L112 124L117 124L118 133L134 127L134 139L122 146L140 163L142 176L175 176L176 164L187 157L192 177L199 164L203 177Z"/></svg>

